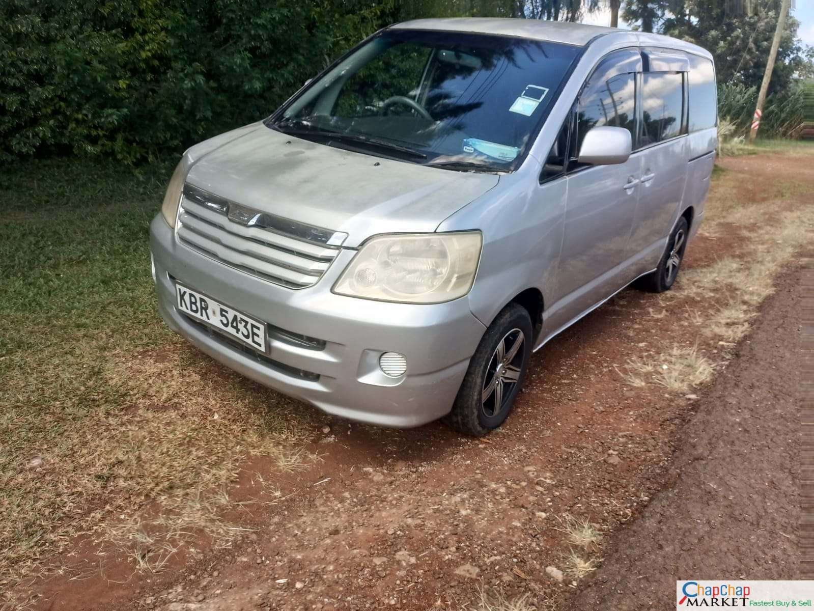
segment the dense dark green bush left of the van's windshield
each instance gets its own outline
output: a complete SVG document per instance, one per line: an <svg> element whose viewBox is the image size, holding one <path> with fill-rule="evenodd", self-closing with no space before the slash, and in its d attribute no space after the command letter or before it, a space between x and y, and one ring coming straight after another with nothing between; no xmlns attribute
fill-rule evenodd
<svg viewBox="0 0 814 611"><path fill-rule="evenodd" d="M5 0L0 158L133 162L267 116L335 55L390 23L344 0Z"/></svg>

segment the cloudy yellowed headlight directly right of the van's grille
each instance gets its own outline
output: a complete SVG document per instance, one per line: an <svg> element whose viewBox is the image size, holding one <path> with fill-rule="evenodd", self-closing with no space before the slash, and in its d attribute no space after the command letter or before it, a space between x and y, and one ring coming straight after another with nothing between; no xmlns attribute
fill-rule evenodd
<svg viewBox="0 0 814 611"><path fill-rule="evenodd" d="M402 303L452 301L472 288L481 243L480 231L380 235L353 257L334 292Z"/></svg>

